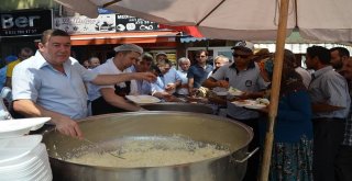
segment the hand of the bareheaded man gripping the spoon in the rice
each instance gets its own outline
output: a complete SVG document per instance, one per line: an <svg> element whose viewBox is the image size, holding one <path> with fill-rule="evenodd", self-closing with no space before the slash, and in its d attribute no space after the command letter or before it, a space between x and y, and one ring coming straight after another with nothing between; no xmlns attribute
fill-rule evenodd
<svg viewBox="0 0 352 181"><path fill-rule="evenodd" d="M69 117L62 117L59 121L55 121L55 124L56 129L64 135L78 138L84 137L78 124Z"/></svg>

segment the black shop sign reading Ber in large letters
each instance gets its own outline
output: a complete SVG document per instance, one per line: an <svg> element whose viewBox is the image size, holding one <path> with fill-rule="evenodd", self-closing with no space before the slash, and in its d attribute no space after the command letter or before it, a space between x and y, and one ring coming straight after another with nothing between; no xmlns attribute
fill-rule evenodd
<svg viewBox="0 0 352 181"><path fill-rule="evenodd" d="M0 12L0 36L40 35L52 29L52 10L15 10Z"/></svg>

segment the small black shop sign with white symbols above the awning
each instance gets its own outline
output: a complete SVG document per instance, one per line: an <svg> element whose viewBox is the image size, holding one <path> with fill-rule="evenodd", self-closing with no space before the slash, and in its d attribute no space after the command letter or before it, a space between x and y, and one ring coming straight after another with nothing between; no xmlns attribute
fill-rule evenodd
<svg viewBox="0 0 352 181"><path fill-rule="evenodd" d="M131 15L117 14L117 32L155 31L158 24Z"/></svg>

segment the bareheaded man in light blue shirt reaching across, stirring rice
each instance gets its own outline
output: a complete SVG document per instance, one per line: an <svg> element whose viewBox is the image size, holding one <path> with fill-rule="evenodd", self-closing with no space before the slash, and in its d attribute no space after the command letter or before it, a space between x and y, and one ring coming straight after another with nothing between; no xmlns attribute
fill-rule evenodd
<svg viewBox="0 0 352 181"><path fill-rule="evenodd" d="M145 79L150 72L97 75L70 57L70 37L62 30L43 32L38 50L16 65L12 77L13 109L26 117L52 117L51 123L65 135L81 138L75 120L88 116L85 82L116 84Z"/></svg>

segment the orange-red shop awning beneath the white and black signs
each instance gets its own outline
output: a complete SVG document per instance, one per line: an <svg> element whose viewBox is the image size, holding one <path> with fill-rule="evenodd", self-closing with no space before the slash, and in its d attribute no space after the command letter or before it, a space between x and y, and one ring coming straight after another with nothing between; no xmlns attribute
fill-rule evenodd
<svg viewBox="0 0 352 181"><path fill-rule="evenodd" d="M72 35L72 45L103 45L103 44L144 44L144 43L175 43L178 32L121 32L101 34Z"/></svg>

